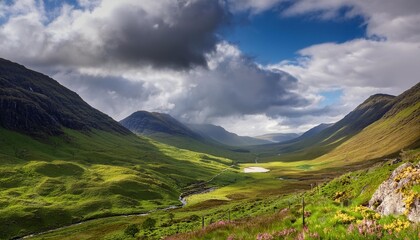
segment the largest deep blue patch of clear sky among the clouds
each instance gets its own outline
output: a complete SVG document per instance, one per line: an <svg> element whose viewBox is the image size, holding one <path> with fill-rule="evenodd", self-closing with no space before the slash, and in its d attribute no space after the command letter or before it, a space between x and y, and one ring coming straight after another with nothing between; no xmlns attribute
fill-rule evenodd
<svg viewBox="0 0 420 240"><path fill-rule="evenodd" d="M329 20L282 17L273 9L258 15L237 14L234 23L234 27L222 31L222 36L262 64L294 59L297 51L311 45L343 43L366 34L366 24L360 16Z"/></svg>

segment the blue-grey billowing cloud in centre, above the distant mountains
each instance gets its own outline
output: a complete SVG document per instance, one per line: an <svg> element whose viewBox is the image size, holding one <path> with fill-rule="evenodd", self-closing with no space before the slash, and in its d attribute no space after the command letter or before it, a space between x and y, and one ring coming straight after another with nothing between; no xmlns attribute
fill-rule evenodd
<svg viewBox="0 0 420 240"><path fill-rule="evenodd" d="M192 77L197 78L195 87L177 99L172 110L172 114L186 120L196 121L197 116L200 121L261 114L274 107L300 107L310 103L293 92L298 87L294 77L282 71L262 69L244 56L228 58L206 74Z"/></svg>

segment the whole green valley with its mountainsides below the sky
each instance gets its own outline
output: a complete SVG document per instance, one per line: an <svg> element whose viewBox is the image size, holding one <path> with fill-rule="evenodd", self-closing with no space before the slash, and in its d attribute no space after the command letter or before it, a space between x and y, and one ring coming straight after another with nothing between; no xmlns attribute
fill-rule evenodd
<svg viewBox="0 0 420 240"><path fill-rule="evenodd" d="M267 142L146 111L118 123L46 75L7 60L0 70L0 239L255 239L285 227L295 237L302 198L311 231L334 238L391 171L420 160L419 83ZM323 207L354 216L318 226ZM396 219L406 221L376 220ZM418 234L408 225L404 236Z"/></svg>

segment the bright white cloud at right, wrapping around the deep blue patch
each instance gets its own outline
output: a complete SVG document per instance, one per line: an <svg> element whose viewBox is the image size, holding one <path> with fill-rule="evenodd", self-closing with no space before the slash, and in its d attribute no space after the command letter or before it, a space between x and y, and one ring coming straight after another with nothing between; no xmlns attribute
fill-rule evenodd
<svg viewBox="0 0 420 240"><path fill-rule="evenodd" d="M314 94L342 89L341 112L352 110L369 95L400 94L418 82L420 74L420 3L418 1L297 1L283 16L318 14L366 19L365 39L324 43L299 51L295 61L270 66L295 76ZM379 40L375 36L380 36Z"/></svg>

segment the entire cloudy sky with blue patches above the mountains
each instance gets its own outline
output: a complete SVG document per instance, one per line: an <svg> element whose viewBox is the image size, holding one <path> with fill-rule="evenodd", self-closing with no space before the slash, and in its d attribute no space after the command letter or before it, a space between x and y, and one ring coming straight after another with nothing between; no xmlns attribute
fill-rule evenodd
<svg viewBox="0 0 420 240"><path fill-rule="evenodd" d="M121 120L302 132L419 82L418 0L0 0L0 57Z"/></svg>

